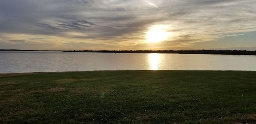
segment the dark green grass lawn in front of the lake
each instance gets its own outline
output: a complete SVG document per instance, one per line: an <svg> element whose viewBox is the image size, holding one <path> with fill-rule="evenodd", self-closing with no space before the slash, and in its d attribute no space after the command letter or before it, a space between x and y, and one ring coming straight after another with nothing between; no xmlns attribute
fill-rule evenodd
<svg viewBox="0 0 256 124"><path fill-rule="evenodd" d="M0 123L256 123L253 71L0 74Z"/></svg>

